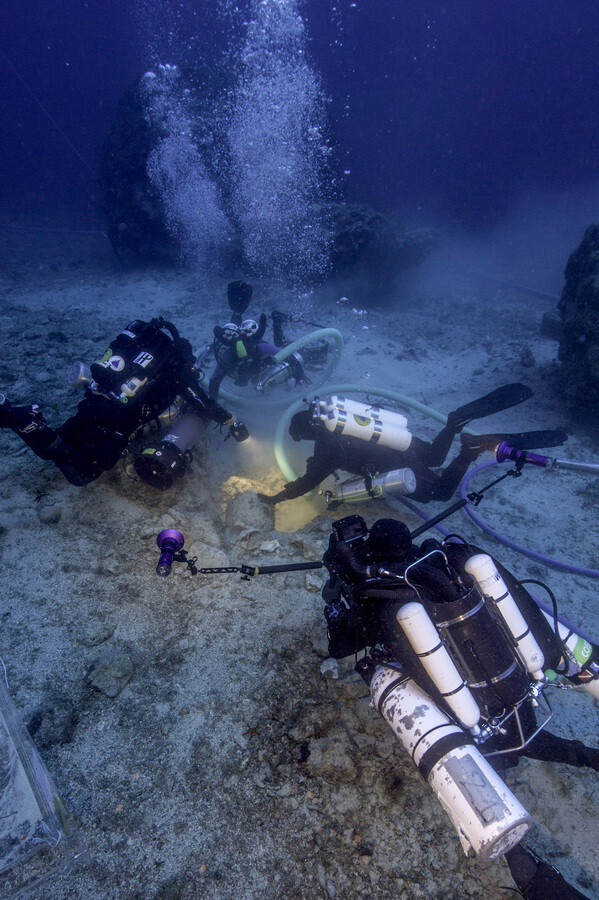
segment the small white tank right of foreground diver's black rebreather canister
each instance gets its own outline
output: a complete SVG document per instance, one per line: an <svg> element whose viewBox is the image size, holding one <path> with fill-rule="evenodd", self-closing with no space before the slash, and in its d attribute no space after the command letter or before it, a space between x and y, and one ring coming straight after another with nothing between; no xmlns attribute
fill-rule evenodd
<svg viewBox="0 0 599 900"><path fill-rule="evenodd" d="M474 579L482 596L493 600L527 670L536 681L543 681L545 678L543 651L491 557L487 553L477 553L466 560L464 568Z"/></svg>

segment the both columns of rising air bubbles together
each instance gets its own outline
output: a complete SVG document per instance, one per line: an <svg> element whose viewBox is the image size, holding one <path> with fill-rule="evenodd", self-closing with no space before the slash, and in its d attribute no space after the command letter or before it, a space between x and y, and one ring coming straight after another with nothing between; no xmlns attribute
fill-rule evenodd
<svg viewBox="0 0 599 900"><path fill-rule="evenodd" d="M252 0L244 38L228 55L229 83L201 116L189 88L203 96L205 84L177 66L156 66L142 79L159 134L149 177L197 269L218 267L234 247L248 274L301 286L327 271L331 151L299 2ZM219 13L225 6L237 10L221 2Z"/></svg>

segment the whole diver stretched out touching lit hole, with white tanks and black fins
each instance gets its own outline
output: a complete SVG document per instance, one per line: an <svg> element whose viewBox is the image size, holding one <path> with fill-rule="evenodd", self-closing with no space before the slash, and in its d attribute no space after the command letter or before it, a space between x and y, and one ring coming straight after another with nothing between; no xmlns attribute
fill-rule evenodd
<svg viewBox="0 0 599 900"><path fill-rule="evenodd" d="M274 506L306 494L341 469L362 478L328 493L331 509L344 501L380 497L385 490L410 494L420 503L448 500L470 464L503 440L518 449L564 443L567 434L560 430L462 435L459 454L445 469L436 471L445 462L453 439L469 422L510 409L531 396L532 391L523 384L504 385L449 413L447 424L432 442L413 436L406 427L407 419L398 413L344 397L333 396L324 402L315 398L307 410L295 413L289 423L294 441L314 441L314 453L308 459L305 474L288 482L278 494L258 496Z"/></svg>

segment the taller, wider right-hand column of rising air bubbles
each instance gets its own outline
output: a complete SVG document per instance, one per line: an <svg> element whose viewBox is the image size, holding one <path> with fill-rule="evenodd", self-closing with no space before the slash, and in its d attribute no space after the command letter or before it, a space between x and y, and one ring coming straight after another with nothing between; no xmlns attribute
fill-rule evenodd
<svg viewBox="0 0 599 900"><path fill-rule="evenodd" d="M328 262L324 96L305 44L297 0L254 3L229 129L245 255L259 274L296 282Z"/></svg>

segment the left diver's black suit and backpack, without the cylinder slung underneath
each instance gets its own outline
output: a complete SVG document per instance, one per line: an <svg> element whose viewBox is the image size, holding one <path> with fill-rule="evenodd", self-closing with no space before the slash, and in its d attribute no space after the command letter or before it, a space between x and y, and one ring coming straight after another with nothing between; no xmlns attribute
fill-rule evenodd
<svg viewBox="0 0 599 900"><path fill-rule="evenodd" d="M37 405L12 406L0 395L0 427L12 429L81 487L112 469L137 429L156 420L177 396L206 421L233 422L200 386L194 363L191 344L172 323L134 321L92 363L94 380L63 425L50 428Z"/></svg>

